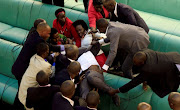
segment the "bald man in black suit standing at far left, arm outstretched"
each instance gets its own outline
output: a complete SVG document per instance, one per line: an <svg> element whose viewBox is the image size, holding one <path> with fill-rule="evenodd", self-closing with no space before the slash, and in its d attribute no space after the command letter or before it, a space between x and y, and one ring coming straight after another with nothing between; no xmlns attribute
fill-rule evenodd
<svg viewBox="0 0 180 110"><path fill-rule="evenodd" d="M23 74L29 66L30 58L36 54L36 46L41 42L46 42L51 33L51 28L46 23L40 23L37 30L32 32L25 41L25 44L12 66L12 74L20 85ZM64 46L49 45L49 49L55 52L64 51Z"/></svg>

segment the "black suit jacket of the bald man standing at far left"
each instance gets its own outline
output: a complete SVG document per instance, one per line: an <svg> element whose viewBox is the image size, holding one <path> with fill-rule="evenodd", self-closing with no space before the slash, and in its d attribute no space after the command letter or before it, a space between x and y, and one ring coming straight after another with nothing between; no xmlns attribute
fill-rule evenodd
<svg viewBox="0 0 180 110"><path fill-rule="evenodd" d="M39 36L37 31L33 31L30 33L23 45L19 56L12 66L12 74L16 77L16 79L20 82L23 74L29 66L30 58L36 54L36 46L45 42L42 37ZM54 46L49 44L50 51L59 52L61 48L59 46Z"/></svg>

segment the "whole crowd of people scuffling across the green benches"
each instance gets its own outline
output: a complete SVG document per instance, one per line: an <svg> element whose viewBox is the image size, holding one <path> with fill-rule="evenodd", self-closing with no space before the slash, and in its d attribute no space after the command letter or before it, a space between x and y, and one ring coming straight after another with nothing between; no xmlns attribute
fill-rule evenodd
<svg viewBox="0 0 180 110"><path fill-rule="evenodd" d="M149 28L130 6L115 0L89 0L88 7L90 29L83 20L72 22L62 8L55 11L52 28L44 19L34 22L12 66L19 84L17 100L23 108L97 110L98 91L120 106L117 93L143 83L161 98L170 94L170 107L179 110L180 54L148 49ZM106 43L110 43L108 56L101 50ZM104 82L103 72L117 63L122 76L131 81L114 89ZM142 102L137 110L152 107Z"/></svg>

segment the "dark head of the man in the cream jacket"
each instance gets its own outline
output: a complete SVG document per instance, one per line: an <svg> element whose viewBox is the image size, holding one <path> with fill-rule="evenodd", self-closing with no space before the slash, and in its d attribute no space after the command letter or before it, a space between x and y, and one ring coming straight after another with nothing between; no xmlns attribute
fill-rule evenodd
<svg viewBox="0 0 180 110"><path fill-rule="evenodd" d="M37 50L37 55L42 56L47 50L48 50L48 45L45 42L39 43L36 47Z"/></svg>

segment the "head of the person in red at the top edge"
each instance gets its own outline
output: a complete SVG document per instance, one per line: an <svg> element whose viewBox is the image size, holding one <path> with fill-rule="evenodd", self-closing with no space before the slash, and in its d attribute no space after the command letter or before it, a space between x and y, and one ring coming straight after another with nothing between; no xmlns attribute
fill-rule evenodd
<svg viewBox="0 0 180 110"><path fill-rule="evenodd" d="M97 12L101 12L103 10L102 0L93 0L93 6Z"/></svg>

